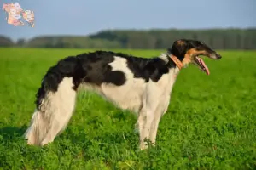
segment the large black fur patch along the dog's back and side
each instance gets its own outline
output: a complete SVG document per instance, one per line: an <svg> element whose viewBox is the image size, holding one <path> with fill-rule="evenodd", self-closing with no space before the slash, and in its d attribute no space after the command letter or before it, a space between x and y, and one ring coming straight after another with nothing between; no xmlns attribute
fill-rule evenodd
<svg viewBox="0 0 256 170"><path fill-rule="evenodd" d="M127 54L108 51L79 54L61 59L55 66L49 68L45 74L41 88L38 89L36 104L39 105L47 92L56 92L64 77L73 77L73 90L77 90L82 82L101 85L103 82L113 83L116 86L125 84L125 73L112 71L109 63L114 56L125 58L127 67L136 78L143 78L145 82L151 79L158 82L163 74L168 73L170 67L175 67L172 60L166 63L160 58L145 59ZM39 108L38 108L39 109Z"/></svg>

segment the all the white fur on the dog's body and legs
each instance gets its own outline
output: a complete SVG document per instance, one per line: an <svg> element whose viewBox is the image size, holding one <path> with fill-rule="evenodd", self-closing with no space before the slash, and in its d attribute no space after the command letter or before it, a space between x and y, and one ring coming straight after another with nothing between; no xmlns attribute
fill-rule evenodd
<svg viewBox="0 0 256 170"><path fill-rule="evenodd" d="M165 55L165 56L164 56ZM166 54L160 58L166 59ZM167 60L165 60L167 62ZM144 139L155 143L160 117L168 108L173 84L179 72L178 68L170 69L158 82L144 82L135 78L127 67L126 59L115 56L112 63L113 71L125 73L126 82L122 86L103 83L100 87L84 83L79 88L93 90L105 99L118 105L121 109L129 109L137 113L137 128L140 133L140 148L147 148ZM66 127L75 106L76 93L72 89L73 79L65 77L55 94L47 94L42 111L35 111L31 126L26 131L28 144L48 144Z"/></svg>

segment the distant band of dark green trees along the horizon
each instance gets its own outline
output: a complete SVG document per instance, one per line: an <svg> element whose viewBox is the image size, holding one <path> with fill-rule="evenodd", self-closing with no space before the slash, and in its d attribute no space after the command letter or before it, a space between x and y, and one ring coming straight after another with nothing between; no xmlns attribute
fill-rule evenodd
<svg viewBox="0 0 256 170"><path fill-rule="evenodd" d="M89 36L41 36L13 42L0 36L0 47L162 49L180 38L196 39L215 49L256 49L256 28L208 30L106 30Z"/></svg>

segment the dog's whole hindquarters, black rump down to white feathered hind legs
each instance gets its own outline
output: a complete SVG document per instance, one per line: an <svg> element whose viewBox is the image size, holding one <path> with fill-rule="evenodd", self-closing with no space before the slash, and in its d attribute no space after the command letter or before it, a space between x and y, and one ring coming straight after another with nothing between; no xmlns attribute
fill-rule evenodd
<svg viewBox="0 0 256 170"><path fill-rule="evenodd" d="M44 145L52 142L72 116L76 90L84 77L77 57L61 59L49 68L38 89L37 110L26 130L27 144Z"/></svg>

